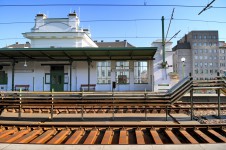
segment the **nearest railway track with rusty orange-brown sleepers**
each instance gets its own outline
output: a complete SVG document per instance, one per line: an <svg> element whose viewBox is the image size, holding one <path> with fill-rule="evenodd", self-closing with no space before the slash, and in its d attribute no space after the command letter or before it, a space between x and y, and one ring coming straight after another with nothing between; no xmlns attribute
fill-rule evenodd
<svg viewBox="0 0 226 150"><path fill-rule="evenodd" d="M214 144L226 143L226 125L2 124L0 143Z"/></svg>

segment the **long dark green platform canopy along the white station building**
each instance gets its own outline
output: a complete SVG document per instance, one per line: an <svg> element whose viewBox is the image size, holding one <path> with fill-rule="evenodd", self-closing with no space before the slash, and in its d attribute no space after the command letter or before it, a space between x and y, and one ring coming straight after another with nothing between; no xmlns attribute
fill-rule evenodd
<svg viewBox="0 0 226 150"><path fill-rule="evenodd" d="M153 60L157 47L123 48L2 48L0 62Z"/></svg>

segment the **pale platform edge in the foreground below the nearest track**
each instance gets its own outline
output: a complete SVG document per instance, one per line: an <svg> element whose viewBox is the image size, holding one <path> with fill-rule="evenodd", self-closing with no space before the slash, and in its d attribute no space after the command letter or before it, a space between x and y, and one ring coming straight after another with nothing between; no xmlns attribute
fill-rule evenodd
<svg viewBox="0 0 226 150"><path fill-rule="evenodd" d="M183 145L42 145L0 144L0 150L225 150L226 144L183 144Z"/></svg>

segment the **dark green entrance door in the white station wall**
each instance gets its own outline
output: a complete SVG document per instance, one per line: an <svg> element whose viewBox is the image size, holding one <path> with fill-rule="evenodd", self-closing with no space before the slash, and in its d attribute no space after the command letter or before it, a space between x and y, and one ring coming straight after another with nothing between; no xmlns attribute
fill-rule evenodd
<svg viewBox="0 0 226 150"><path fill-rule="evenodd" d="M64 66L51 66L50 73L51 86L56 92L64 91Z"/></svg>

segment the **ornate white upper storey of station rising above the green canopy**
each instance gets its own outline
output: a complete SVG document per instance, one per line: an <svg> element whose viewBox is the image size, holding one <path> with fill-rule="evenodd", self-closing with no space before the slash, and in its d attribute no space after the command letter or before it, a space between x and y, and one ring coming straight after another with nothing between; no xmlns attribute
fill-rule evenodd
<svg viewBox="0 0 226 150"><path fill-rule="evenodd" d="M98 47L91 39L90 31L80 27L76 13L68 14L68 18L37 14L34 27L23 36L30 39L32 48Z"/></svg>

